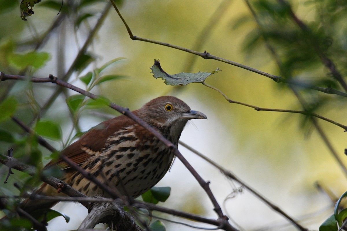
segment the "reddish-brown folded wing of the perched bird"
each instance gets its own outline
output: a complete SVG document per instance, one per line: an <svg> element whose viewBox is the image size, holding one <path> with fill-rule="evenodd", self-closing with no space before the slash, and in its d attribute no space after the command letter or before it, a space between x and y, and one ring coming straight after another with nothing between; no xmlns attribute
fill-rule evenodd
<svg viewBox="0 0 347 231"><path fill-rule="evenodd" d="M102 152L109 136L126 126L133 124L135 124L135 122L125 115L104 121L86 132L75 143L67 146L61 154L64 154L77 165L83 165L90 157ZM53 166L61 170L71 168L64 160L59 158L58 160L50 161L44 169Z"/></svg>

